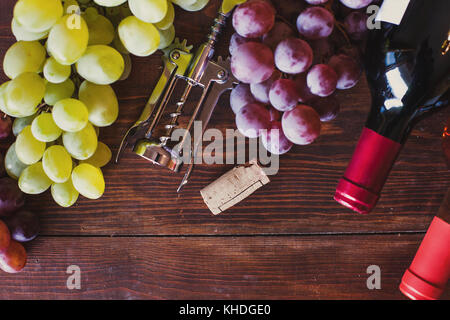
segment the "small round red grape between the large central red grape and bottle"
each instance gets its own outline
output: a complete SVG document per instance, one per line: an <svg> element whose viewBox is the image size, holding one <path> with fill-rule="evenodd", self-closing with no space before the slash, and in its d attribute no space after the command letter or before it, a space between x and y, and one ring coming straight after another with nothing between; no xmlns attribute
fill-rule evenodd
<svg viewBox="0 0 450 320"><path fill-rule="evenodd" d="M312 94L327 97L336 90L337 74L333 68L326 64L316 64L306 76L306 83Z"/></svg>

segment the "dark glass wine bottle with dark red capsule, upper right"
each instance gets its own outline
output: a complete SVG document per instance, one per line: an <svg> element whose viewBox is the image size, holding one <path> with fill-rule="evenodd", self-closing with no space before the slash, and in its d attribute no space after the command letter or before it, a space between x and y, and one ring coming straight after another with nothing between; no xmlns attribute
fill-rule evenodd
<svg viewBox="0 0 450 320"><path fill-rule="evenodd" d="M448 105L449 12L449 0L384 0L364 61L371 110L334 196L344 206L370 212L414 124Z"/></svg>

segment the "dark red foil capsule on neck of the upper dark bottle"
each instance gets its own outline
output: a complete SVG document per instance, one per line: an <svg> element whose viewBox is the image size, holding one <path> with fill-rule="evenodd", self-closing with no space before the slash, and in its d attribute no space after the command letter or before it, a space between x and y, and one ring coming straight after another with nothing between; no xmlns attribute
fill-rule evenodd
<svg viewBox="0 0 450 320"><path fill-rule="evenodd" d="M364 128L334 199L359 213L369 213L400 152L401 144Z"/></svg>

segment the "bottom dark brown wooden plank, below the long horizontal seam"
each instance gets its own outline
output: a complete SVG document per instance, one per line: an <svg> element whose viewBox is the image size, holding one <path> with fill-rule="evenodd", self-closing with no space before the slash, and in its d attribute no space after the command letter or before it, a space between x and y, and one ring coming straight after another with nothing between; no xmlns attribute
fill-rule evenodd
<svg viewBox="0 0 450 320"><path fill-rule="evenodd" d="M404 299L397 287L421 238L41 237L22 273L0 273L0 298ZM69 265L81 290L66 288ZM367 289L370 265L380 290Z"/></svg>

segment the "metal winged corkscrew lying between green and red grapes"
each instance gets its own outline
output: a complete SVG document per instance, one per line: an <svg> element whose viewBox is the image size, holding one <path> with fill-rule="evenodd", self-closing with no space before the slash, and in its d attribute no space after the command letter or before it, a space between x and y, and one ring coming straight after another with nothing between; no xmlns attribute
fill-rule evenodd
<svg viewBox="0 0 450 320"><path fill-rule="evenodd" d="M163 50L164 69L156 84L147 104L139 119L128 129L120 144L116 163L127 146L133 148L133 152L161 167L178 172L183 164L183 159L190 159L183 180L178 187L179 192L187 184L194 169L194 156L197 153L201 141L193 141L189 132L195 121L201 121L202 135L206 130L212 113L220 96L227 90L231 90L238 82L231 73L230 60L218 57L212 61L215 44L218 36L226 25L229 13L219 10L214 20L211 32L194 55L192 46L187 41L175 41ZM181 97L172 105L169 105L174 94L175 86L179 81L185 81ZM179 118L184 115L185 104L193 88L201 88L201 97L196 102L192 114L188 120L185 134L180 141L172 141L171 136L176 128L180 128ZM200 138L201 140L201 138ZM190 155L182 155L185 143L190 143Z"/></svg>

